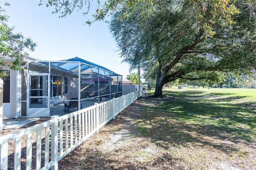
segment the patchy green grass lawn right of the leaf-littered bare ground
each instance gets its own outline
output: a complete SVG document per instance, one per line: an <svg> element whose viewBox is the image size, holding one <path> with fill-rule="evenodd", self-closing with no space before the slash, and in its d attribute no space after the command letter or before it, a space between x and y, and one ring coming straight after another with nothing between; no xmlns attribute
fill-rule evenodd
<svg viewBox="0 0 256 170"><path fill-rule="evenodd" d="M256 89L184 87L163 95L141 108L140 134L187 168L256 168Z"/></svg>

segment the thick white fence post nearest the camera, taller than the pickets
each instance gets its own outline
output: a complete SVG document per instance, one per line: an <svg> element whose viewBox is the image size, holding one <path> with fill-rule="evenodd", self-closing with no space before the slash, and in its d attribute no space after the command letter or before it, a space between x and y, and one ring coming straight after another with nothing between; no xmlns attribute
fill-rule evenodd
<svg viewBox="0 0 256 170"><path fill-rule="evenodd" d="M54 124L52 125L52 132L51 132L51 159L53 160L53 167L51 170L58 170L58 117L59 116L52 116L52 120L54 120Z"/></svg>

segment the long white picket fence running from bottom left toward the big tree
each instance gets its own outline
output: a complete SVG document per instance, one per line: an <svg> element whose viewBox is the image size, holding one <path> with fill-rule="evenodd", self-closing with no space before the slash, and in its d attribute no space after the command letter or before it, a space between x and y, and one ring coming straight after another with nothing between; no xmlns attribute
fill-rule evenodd
<svg viewBox="0 0 256 170"><path fill-rule="evenodd" d="M0 169L58 170L58 161L133 103L135 91L0 137ZM14 152L8 155L8 143ZM24 146L25 145L25 146ZM34 149L36 147L36 149ZM33 149L32 149L33 148Z"/></svg>

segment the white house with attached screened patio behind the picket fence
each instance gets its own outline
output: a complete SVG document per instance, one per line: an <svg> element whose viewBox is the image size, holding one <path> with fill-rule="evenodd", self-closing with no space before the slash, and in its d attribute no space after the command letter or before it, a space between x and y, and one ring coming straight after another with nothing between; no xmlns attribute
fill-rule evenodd
<svg viewBox="0 0 256 170"><path fill-rule="evenodd" d="M11 65L14 59L1 56ZM2 67L4 77L3 118L49 117L50 107L72 97L80 102L99 94L106 98L122 95L113 78L122 75L79 57L61 61L43 61L24 56L22 70Z"/></svg>

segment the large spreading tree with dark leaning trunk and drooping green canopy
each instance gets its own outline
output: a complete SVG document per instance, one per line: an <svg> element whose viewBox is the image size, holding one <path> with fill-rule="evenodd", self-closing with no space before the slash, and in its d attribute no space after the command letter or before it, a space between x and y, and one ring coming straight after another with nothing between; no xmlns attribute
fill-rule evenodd
<svg viewBox="0 0 256 170"><path fill-rule="evenodd" d="M154 96L179 78L214 80L220 71L255 71L254 0L136 3L114 14L110 30L122 57L139 51L144 72L156 79Z"/></svg>

